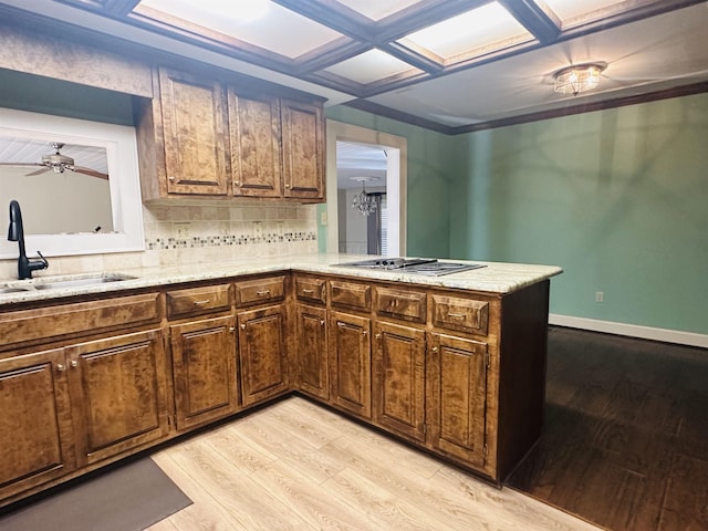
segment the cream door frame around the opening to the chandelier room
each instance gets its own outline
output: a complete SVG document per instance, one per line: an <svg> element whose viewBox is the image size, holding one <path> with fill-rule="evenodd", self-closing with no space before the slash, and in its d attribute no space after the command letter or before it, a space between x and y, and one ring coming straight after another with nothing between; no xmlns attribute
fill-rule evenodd
<svg viewBox="0 0 708 531"><path fill-rule="evenodd" d="M406 256L406 183L408 139L379 131L326 121L326 251L339 252L339 207L336 183L336 143L356 142L384 149L387 154L386 201L388 207L388 254Z"/></svg>

